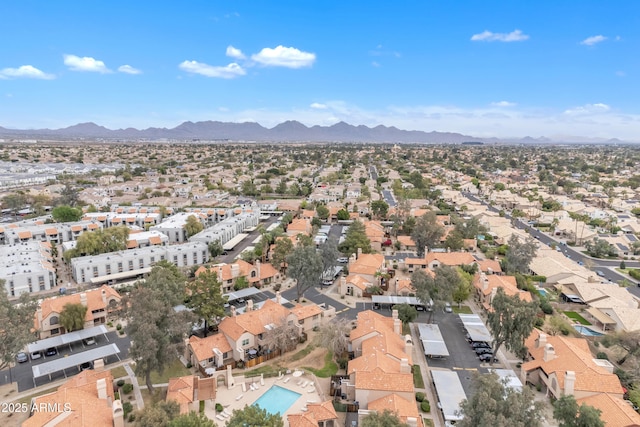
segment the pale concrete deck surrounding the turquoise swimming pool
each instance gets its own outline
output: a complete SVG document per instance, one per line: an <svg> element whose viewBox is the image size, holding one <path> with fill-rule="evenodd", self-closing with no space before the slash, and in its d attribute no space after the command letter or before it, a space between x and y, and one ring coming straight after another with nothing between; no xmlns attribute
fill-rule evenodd
<svg viewBox="0 0 640 427"><path fill-rule="evenodd" d="M288 378L288 380L287 380ZM224 426L227 423L228 417L224 419L216 418L216 415L219 415L215 411L215 404L221 404L227 412L233 412L235 409L242 409L246 405L253 405L253 403L260 398L263 394L271 388L272 385L278 385L280 387L289 389L296 393L300 393L301 396L296 400L293 405L289 407L289 409L281 414L284 420L284 425L287 427L289 425L287 421L288 414L295 414L303 412L303 408L307 405L307 403L321 403L322 397L318 392L318 387L322 387L323 389L328 388L328 379L324 378L316 378L314 375L303 373L299 377L294 377L292 374L283 375L281 378L264 378L264 385L261 385L260 377L253 378L244 378L244 377L235 377L236 385L232 389L228 389L226 385L220 385L218 391L216 393L215 402L207 401L204 407L205 415L213 420L217 426ZM286 381L286 382L285 382ZM245 383L246 391L242 391L242 382ZM298 383L301 384L298 384ZM307 382L305 387L304 382ZM325 385L324 382L327 384ZM251 390L251 384L258 385L259 388L257 390ZM315 388L312 387L312 384L315 384ZM238 398L238 396L242 396Z"/></svg>

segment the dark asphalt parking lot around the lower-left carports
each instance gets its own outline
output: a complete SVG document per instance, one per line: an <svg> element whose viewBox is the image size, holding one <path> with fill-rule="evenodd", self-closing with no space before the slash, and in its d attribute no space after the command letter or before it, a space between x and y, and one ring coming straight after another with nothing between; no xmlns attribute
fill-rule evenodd
<svg viewBox="0 0 640 427"><path fill-rule="evenodd" d="M118 356L120 357L120 359L126 359L128 357L129 354L129 347L131 347L131 340L129 339L129 337L125 336L125 337L121 337L117 334L116 331L113 332L109 332L106 334L107 336L105 337L104 335L99 335L96 337L96 346L97 347L102 347L111 343L115 343L118 348L120 349L120 353L118 354ZM82 352L82 351L86 351L86 350L91 350L96 348L96 346L85 346L81 341L74 343L71 347L71 349L69 349L69 346L62 346L58 348L58 354L55 356L51 356L51 357L45 357L43 356L41 359L32 361L31 359L29 359L29 361L24 362L24 363L18 363L16 364L16 366L11 368L11 372L9 372L9 369L5 369L3 371L0 371L0 385L2 384L7 384L8 381L11 379L12 381L18 383L18 391L22 392L25 390L30 390L32 388L34 388L34 384L33 384L33 372L31 370L31 367L34 365L39 365L41 363L45 363L45 362L50 362L52 360L56 360L56 359L60 359L65 357L66 355L69 355L71 353L78 353L78 352ZM118 361L118 357L116 356L109 356L107 358L106 364L109 363L115 363ZM55 381L55 380L59 380L59 379L63 379L66 377L70 377L73 375L76 375L79 373L79 370L77 368L68 368L65 372L57 372L55 374L51 375L51 381ZM36 380L36 385L37 386L41 386L41 385L45 385L47 383L49 383L49 377L41 377L38 378Z"/></svg>

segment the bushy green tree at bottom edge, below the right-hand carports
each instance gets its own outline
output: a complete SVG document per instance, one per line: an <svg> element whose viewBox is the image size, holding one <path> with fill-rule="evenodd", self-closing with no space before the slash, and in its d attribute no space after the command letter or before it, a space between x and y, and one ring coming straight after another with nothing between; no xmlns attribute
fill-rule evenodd
<svg viewBox="0 0 640 427"><path fill-rule="evenodd" d="M460 404L463 419L456 426L541 427L544 404L534 401L529 387L517 391L508 387L507 381L494 372L474 372L475 392Z"/></svg>

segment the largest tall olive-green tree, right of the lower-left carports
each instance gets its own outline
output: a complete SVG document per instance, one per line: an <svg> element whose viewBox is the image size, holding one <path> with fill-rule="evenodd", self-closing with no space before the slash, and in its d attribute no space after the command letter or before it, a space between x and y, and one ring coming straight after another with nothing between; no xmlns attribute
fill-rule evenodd
<svg viewBox="0 0 640 427"><path fill-rule="evenodd" d="M184 301L184 283L185 277L175 265L160 261L131 291L125 304L132 342L129 355L136 362L136 374L144 376L150 392L151 372L162 373L177 354L182 354L184 336L191 331L193 314L174 310Z"/></svg>

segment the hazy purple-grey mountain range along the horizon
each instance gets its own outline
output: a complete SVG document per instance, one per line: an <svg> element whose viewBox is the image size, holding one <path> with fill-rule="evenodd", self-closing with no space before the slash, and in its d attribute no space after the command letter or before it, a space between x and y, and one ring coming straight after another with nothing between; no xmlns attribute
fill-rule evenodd
<svg viewBox="0 0 640 427"><path fill-rule="evenodd" d="M298 121L286 121L273 128L255 122L229 123L218 121L184 122L174 128L107 129L95 123L79 123L62 129L7 129L0 127L0 138L103 139L114 141L179 140L179 141L256 141L256 142L378 142L378 143L622 143L622 141L563 137L499 139L476 138L453 132L402 130L378 125L370 128L339 122L331 126L307 127Z"/></svg>

